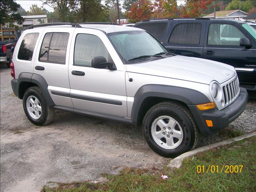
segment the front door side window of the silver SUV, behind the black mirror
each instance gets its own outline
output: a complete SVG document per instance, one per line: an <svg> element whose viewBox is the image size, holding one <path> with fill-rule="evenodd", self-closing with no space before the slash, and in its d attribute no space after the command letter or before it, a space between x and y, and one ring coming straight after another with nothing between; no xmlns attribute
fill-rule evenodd
<svg viewBox="0 0 256 192"><path fill-rule="evenodd" d="M74 65L92 66L92 58L103 56L108 62L112 61L103 42L95 35L77 34L74 50Z"/></svg>

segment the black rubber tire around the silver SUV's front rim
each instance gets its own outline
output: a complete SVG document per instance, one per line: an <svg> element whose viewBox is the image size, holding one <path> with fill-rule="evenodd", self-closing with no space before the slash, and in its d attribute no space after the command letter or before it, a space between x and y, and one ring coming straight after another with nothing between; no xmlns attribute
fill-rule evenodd
<svg viewBox="0 0 256 192"><path fill-rule="evenodd" d="M156 129L158 129L158 131L160 129L161 130L160 133L164 134L164 136L168 136L169 138L170 138L170 136L172 136L172 138L173 138L172 144L174 144L174 143L178 144L178 146L176 146L176 147L173 146L173 147L175 147L173 149L166 149L166 147L163 146L163 145L167 144L166 139L169 139L169 138L161 138L161 140L159 140L159 138L156 139L156 137L155 137L155 140L159 141L157 143L154 140L152 132L151 132L151 130L154 129L154 126L156 125L155 122L159 118L161 119L161 117L165 117L165 116L169 116L170 119L178 122L177 123L178 130L182 129L183 135L181 134L180 139L178 139L178 138L173 138L173 136L170 135L170 134L174 134L173 132L168 132L168 133L164 134L164 133L162 133L162 128L160 128L160 126L158 126L158 125L156 126ZM163 120L165 120L165 119L163 118ZM154 125L152 126L153 122L154 122ZM143 119L142 128L143 128L144 137L146 138L146 142L148 143L149 147L157 154L164 156L164 157L168 157L168 158L176 157L184 152L191 150L192 148L194 148L196 146L197 139L198 139L198 129L196 128L196 124L192 118L192 114L186 107L184 107L176 102L162 102L162 103L156 104L155 106L150 108L150 110L148 110L148 112L146 113L146 115ZM176 128L176 126L174 126L174 129L175 128ZM169 129L169 127L168 127L168 129ZM166 130L164 130L164 131L166 131ZM167 131L170 131L170 130L167 130ZM181 132L181 130L180 130L180 132ZM153 134L154 134L154 131L153 131ZM161 137L161 135L160 135L160 137ZM175 142L174 140L178 140L179 142ZM166 141L166 143L164 141ZM161 144L162 144L162 146L160 146ZM167 147L172 147L172 146L167 145Z"/></svg>

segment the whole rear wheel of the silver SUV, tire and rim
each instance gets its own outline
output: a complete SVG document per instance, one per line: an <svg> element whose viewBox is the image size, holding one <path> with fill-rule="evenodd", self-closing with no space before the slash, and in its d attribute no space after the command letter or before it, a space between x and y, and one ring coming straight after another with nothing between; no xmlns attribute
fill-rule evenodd
<svg viewBox="0 0 256 192"><path fill-rule="evenodd" d="M46 125L54 118L54 109L47 102L39 87L30 87L23 96L24 112L33 124Z"/></svg>

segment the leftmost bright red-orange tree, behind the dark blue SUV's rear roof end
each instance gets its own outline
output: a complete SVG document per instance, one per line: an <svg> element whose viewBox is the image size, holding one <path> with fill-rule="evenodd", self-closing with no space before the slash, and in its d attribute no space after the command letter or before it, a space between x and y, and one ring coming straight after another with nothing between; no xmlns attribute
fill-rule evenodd
<svg viewBox="0 0 256 192"><path fill-rule="evenodd" d="M151 18L153 4L150 0L143 0L132 5L130 10L126 12L130 23L136 23Z"/></svg>

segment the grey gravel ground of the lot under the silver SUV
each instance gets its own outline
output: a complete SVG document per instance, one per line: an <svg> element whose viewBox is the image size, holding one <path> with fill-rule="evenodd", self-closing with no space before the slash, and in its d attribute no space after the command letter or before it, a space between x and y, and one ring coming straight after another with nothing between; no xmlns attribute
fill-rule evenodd
<svg viewBox="0 0 256 192"><path fill-rule="evenodd" d="M162 167L170 159L155 154L141 127L56 111L43 127L26 118L22 101L12 93L10 69L0 73L0 191L38 191L47 182L100 179L124 166ZM255 92L250 93L255 98ZM256 130L256 100L229 125L233 130ZM227 135L200 136L198 146L219 142Z"/></svg>

